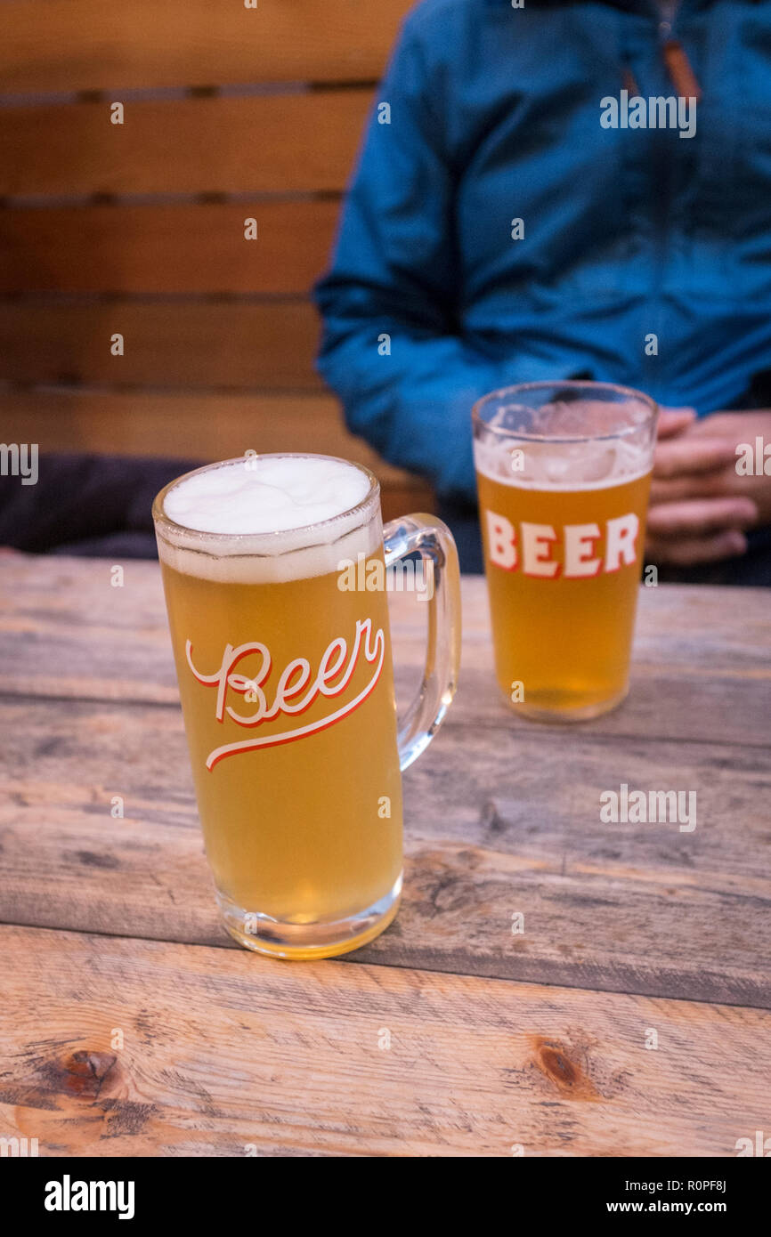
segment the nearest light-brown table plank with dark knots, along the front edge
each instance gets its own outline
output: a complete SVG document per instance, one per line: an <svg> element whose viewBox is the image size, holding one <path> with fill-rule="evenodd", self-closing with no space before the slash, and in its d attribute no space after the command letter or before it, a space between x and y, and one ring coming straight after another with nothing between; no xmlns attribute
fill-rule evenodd
<svg viewBox="0 0 771 1237"><path fill-rule="evenodd" d="M0 1129L41 1154L726 1157L766 1119L759 1011L63 931L0 943Z"/></svg>

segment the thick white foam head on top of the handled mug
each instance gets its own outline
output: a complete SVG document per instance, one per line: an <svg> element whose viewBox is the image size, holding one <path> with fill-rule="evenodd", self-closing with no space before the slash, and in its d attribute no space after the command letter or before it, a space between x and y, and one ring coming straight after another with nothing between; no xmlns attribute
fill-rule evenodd
<svg viewBox="0 0 771 1237"><path fill-rule="evenodd" d="M337 571L382 542L370 477L324 455L255 455L191 473L167 492L161 559L204 580L262 584ZM309 528L313 524L316 527Z"/></svg>

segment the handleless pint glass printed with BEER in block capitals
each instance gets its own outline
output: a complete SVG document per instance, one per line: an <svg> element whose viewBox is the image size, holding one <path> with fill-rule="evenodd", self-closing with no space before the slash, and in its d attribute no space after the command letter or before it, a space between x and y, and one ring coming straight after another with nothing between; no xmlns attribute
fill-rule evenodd
<svg viewBox="0 0 771 1237"><path fill-rule="evenodd" d="M657 414L600 382L528 382L474 406L496 677L528 717L597 717L629 690Z"/></svg>

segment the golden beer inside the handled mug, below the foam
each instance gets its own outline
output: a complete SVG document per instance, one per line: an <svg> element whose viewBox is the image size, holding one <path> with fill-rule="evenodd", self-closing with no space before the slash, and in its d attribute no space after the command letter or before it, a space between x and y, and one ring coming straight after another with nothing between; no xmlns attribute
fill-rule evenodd
<svg viewBox="0 0 771 1237"><path fill-rule="evenodd" d="M385 593L365 596L363 606L359 594L338 590L337 573L280 584L225 584L167 565L162 570L200 820L218 889L239 907L301 923L343 919L377 902L401 872L402 831ZM384 632L380 682L359 708L313 736L271 745L276 735L299 729L287 726L283 714L266 719L259 731L236 729L230 719L223 727L215 714L218 684L202 683L191 672L191 662L199 674L215 670L228 643L239 648L255 638L280 669L299 649L318 667L332 641L353 642L361 617ZM238 673L256 684L264 661L259 651L246 653ZM375 669L376 663L359 658L353 696ZM266 696L271 682L275 674L262 685ZM256 698L256 690L251 695ZM233 689L225 699L239 715L256 714L256 699L245 703ZM303 726L335 711L329 704L319 693L302 714ZM269 742L207 766L224 742L249 741L250 732ZM384 795L390 804L385 818L379 816Z"/></svg>

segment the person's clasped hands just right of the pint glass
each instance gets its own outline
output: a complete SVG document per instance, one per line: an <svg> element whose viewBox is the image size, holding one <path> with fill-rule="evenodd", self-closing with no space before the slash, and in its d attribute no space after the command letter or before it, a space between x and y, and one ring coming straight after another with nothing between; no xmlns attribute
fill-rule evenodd
<svg viewBox="0 0 771 1237"><path fill-rule="evenodd" d="M714 413L662 408L653 460L646 553L678 567L744 554L745 531L771 520L771 477L736 473L736 444L755 442L769 413Z"/></svg>

